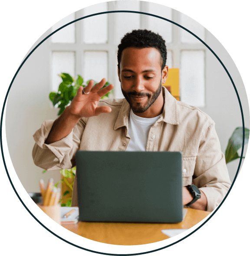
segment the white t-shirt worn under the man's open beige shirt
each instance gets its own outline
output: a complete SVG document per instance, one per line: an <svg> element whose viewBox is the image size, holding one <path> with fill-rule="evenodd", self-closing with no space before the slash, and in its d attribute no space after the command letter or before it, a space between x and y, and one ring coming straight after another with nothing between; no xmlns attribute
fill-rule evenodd
<svg viewBox="0 0 250 256"><path fill-rule="evenodd" d="M130 109L128 135L131 140L126 151L146 151L149 130L160 116L158 115L155 118L141 118L135 115L132 109Z"/></svg>

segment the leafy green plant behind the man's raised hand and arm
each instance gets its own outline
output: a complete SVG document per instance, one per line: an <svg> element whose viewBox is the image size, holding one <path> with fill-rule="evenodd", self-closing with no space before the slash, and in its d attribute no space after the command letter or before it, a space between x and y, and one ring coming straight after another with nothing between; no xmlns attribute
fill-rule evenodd
<svg viewBox="0 0 250 256"><path fill-rule="evenodd" d="M57 115L61 115L66 106L68 106L72 99L76 96L76 92L80 86L85 87L87 84L89 84L89 81L84 83L83 78L78 75L77 79L70 76L67 73L59 74L59 77L62 78L62 82L59 85L58 91L52 91L49 93L49 99L52 101L53 106L55 108L59 108L59 111ZM97 82L94 82L94 85L97 84ZM104 87L108 86L110 83L106 82ZM113 90L105 94L102 98L108 98L109 94L112 94ZM46 170L43 170L43 173L46 172ZM57 188L60 182L62 182L62 199L60 199L59 202L61 202L61 206L71 206L71 199L72 199L72 191L73 191L73 185L74 185L74 179L76 174L76 167L73 167L69 170L60 170L60 173L62 175L62 179L59 180L54 186Z"/></svg>

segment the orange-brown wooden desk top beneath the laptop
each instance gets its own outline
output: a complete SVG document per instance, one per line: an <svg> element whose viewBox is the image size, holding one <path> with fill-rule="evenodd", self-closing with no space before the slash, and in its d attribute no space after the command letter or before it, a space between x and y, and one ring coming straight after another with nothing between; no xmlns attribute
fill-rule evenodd
<svg viewBox="0 0 250 256"><path fill-rule="evenodd" d="M169 237L161 232L162 229L190 229L209 214L210 212L188 208L184 221L177 224L78 222L61 226L92 241L133 246L168 239Z"/></svg>

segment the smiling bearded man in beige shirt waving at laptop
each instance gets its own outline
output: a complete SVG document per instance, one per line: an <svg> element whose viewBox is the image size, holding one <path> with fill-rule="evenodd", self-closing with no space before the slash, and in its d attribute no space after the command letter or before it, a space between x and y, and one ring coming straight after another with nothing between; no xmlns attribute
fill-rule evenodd
<svg viewBox="0 0 250 256"><path fill-rule="evenodd" d="M101 100L114 88L102 88L105 79L80 87L62 115L43 122L33 135L35 164L46 170L69 169L77 150L181 151L183 204L212 212L231 185L214 121L162 87L168 77L166 58L165 41L158 34L126 34L118 45L125 99ZM77 177L72 206L78 205L76 182Z"/></svg>

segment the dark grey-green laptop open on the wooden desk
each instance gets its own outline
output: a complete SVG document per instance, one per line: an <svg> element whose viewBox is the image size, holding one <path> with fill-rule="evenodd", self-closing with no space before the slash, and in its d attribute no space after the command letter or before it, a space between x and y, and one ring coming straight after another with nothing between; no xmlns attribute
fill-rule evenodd
<svg viewBox="0 0 250 256"><path fill-rule="evenodd" d="M79 221L178 223L181 152L77 151Z"/></svg>

